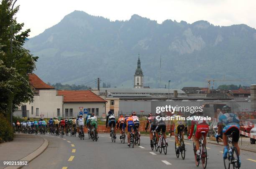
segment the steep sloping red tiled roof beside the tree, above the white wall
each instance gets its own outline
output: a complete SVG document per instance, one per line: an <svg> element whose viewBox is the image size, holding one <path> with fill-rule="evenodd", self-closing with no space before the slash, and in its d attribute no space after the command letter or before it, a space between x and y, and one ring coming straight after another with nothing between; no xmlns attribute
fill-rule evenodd
<svg viewBox="0 0 256 169"><path fill-rule="evenodd" d="M29 74L29 83L35 89L54 89L53 86L50 86L44 83L36 74L31 73Z"/></svg>

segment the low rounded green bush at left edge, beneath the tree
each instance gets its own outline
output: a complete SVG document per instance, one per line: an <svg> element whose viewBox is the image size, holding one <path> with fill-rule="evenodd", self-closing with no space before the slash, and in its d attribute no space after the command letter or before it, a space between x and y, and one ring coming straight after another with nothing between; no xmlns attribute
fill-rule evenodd
<svg viewBox="0 0 256 169"><path fill-rule="evenodd" d="M13 140L13 127L10 122L0 114L0 142Z"/></svg>

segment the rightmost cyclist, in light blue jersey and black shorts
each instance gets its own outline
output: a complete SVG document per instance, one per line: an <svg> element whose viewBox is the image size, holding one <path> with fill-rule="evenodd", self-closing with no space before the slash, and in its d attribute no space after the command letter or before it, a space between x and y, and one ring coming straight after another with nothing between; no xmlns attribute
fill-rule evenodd
<svg viewBox="0 0 256 169"><path fill-rule="evenodd" d="M230 106L223 106L222 108L222 115L219 116L219 124L218 124L218 134L215 137L218 139L220 137L220 131L223 130L223 144L224 144L224 152L223 158L226 159L228 156L228 136L233 132L233 141L234 146L238 151L239 156L239 167L241 166L241 158L240 158L240 148L238 146L238 140L240 136L240 120L236 114L231 113ZM222 126L225 124L225 127Z"/></svg>

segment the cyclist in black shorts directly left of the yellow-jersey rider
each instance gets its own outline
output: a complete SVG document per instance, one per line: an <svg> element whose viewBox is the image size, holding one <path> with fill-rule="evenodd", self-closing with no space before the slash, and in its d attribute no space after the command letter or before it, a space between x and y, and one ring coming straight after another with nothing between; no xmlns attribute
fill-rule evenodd
<svg viewBox="0 0 256 169"><path fill-rule="evenodd" d="M164 135L164 139L166 141L166 146L168 146L167 139L166 139L166 124L164 120L161 118L163 117L161 113L157 113L156 117L154 119L154 124L156 124L156 140L157 140L157 146L160 147L159 142L159 132L162 131L162 134Z"/></svg>

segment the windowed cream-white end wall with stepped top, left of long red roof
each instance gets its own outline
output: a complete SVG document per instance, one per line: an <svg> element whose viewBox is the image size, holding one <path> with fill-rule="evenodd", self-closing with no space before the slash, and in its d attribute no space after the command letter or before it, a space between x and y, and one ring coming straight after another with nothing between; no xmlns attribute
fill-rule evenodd
<svg viewBox="0 0 256 169"><path fill-rule="evenodd" d="M39 90L39 95L34 96L33 103L26 103L28 117L40 118L40 114L44 114L44 118L57 117L57 108L60 109L62 116L62 100L63 96L57 96L57 90ZM33 106L33 114L31 108ZM39 108L39 116L36 116L36 108Z"/></svg>

